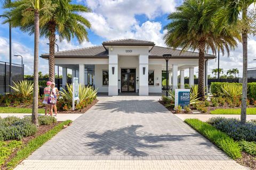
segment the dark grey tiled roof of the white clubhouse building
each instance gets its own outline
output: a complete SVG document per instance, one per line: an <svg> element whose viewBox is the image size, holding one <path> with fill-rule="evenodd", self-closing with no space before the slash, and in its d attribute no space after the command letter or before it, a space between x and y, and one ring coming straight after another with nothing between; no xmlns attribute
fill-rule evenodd
<svg viewBox="0 0 256 170"><path fill-rule="evenodd" d="M138 45L140 44L140 45ZM108 58L108 50L105 46L152 46L149 52L149 58L162 58L163 54L171 54L172 58L189 59L198 58L199 53L173 49L169 47L155 46L151 41L122 39L104 41L100 46L93 46L87 48L71 49L55 53L55 58ZM49 54L42 54L42 58L48 58ZM215 56L205 54L206 59L214 59Z"/></svg>

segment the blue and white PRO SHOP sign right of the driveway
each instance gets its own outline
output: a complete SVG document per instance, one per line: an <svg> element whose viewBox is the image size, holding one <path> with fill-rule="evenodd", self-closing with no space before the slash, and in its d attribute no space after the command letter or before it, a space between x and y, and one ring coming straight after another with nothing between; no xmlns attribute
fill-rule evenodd
<svg viewBox="0 0 256 170"><path fill-rule="evenodd" d="M190 89L175 89L175 106L189 106L190 103Z"/></svg>

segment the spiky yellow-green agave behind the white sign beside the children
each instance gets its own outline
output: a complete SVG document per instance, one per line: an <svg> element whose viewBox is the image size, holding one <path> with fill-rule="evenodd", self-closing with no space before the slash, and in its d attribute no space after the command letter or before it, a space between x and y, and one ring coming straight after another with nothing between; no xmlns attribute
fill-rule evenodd
<svg viewBox="0 0 256 170"><path fill-rule="evenodd" d="M62 91L60 91L60 94L63 98L67 99L68 101L72 102L73 98L73 85L67 84L67 91L62 88ZM82 84L79 84L79 101L83 102L86 99L95 99L97 95L97 89L93 89L93 87L90 86L84 86Z"/></svg>

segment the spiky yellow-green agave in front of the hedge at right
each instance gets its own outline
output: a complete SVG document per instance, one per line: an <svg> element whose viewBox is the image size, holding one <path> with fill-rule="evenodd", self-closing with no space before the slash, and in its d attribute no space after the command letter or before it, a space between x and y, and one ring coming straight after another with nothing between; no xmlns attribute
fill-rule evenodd
<svg viewBox="0 0 256 170"><path fill-rule="evenodd" d="M217 92L224 97L240 97L242 95L242 86L234 83L221 84L220 88L217 88Z"/></svg>

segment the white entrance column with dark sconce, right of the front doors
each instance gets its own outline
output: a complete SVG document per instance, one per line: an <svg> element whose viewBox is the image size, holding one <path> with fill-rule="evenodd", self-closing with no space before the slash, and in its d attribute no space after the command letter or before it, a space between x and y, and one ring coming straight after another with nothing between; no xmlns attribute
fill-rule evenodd
<svg viewBox="0 0 256 170"><path fill-rule="evenodd" d="M139 95L148 96L148 55L139 56Z"/></svg>

